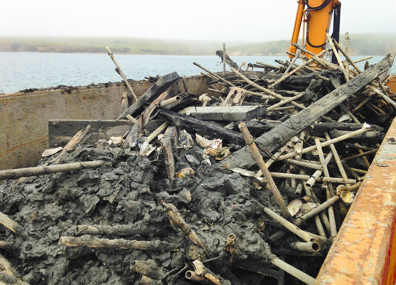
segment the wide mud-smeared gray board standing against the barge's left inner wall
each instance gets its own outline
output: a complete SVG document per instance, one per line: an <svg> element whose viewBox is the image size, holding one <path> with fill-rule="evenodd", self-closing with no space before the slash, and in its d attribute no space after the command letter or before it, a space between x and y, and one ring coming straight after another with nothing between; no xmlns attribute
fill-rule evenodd
<svg viewBox="0 0 396 285"><path fill-rule="evenodd" d="M152 132L163 123L163 120L152 120L146 129ZM66 145L79 130L85 129L89 124L91 130L97 132L97 137L90 138L87 143L95 143L101 138L109 140L110 137L123 136L131 128L128 120L49 120L49 147Z"/></svg>

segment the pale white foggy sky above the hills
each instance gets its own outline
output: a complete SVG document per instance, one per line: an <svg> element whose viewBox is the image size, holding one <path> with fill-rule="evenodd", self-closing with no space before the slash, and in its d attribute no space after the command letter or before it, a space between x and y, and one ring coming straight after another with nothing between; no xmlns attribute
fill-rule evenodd
<svg viewBox="0 0 396 285"><path fill-rule="evenodd" d="M395 33L395 0L341 0L341 33ZM296 0L0 0L0 35L263 42L291 37Z"/></svg>

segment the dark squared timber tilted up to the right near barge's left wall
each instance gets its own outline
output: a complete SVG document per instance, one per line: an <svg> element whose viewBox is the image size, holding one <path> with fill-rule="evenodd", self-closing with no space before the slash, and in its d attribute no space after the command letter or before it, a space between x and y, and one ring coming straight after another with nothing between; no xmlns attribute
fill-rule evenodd
<svg viewBox="0 0 396 285"><path fill-rule="evenodd" d="M137 101L133 103L124 113L118 116L117 119L124 119L127 114L131 115L132 117L136 117L143 111L145 105L154 101L154 99L156 99L162 92L167 90L179 78L180 77L176 72L162 76L145 92L145 94L140 96L139 99L137 99Z"/></svg>

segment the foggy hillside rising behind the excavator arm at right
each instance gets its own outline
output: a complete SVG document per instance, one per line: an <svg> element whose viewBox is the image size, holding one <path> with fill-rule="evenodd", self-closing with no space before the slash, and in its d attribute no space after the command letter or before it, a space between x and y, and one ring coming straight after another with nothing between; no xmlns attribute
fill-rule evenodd
<svg viewBox="0 0 396 285"><path fill-rule="evenodd" d="M349 39L351 55L386 55L396 51L396 34L349 34ZM299 41L301 43L301 39ZM340 44L345 46L344 34L340 35ZM227 48L227 53L229 55L284 55L289 50L289 46L290 40L276 40Z"/></svg>

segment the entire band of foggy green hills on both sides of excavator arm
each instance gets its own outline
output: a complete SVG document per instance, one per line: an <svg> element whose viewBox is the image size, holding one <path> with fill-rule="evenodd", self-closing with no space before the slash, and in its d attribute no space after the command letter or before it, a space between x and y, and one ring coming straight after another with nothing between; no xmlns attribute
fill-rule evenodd
<svg viewBox="0 0 396 285"><path fill-rule="evenodd" d="M340 38L344 46L344 35ZM349 38L351 55L386 55L396 50L396 33L350 34ZM234 41L227 42L226 48L229 55L284 55L289 45L290 40L259 44ZM106 46L118 54L213 55L223 43L155 38L0 36L0 52L106 53Z"/></svg>

